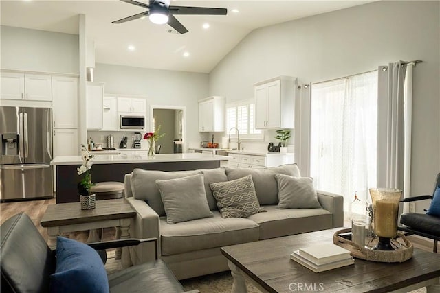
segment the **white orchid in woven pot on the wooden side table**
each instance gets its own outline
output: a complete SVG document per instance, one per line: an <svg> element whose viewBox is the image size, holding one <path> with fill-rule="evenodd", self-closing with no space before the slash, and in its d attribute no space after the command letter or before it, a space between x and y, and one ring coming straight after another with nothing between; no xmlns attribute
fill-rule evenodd
<svg viewBox="0 0 440 293"><path fill-rule="evenodd" d="M84 174L83 180L78 183L78 191L80 193L81 209L94 209L96 198L94 194L90 193L91 187L94 183L91 181L91 166L93 154L89 153L89 150L85 145L81 145L81 156L83 159L83 165L76 169L78 175Z"/></svg>

